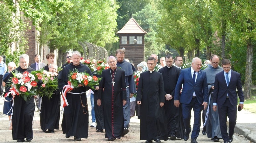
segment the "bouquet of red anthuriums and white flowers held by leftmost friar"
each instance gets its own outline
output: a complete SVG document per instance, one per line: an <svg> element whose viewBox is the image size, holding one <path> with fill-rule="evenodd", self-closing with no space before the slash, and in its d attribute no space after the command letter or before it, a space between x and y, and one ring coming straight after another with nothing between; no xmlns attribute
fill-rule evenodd
<svg viewBox="0 0 256 143"><path fill-rule="evenodd" d="M27 101L29 98L36 95L38 91L37 82L35 76L27 71L23 74L18 71L12 71L13 77L9 79L10 83L6 86L11 86L10 92L6 93L4 97L9 94L20 96L23 100Z"/></svg>

